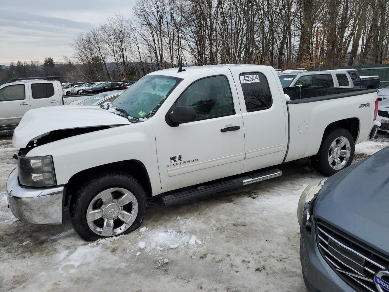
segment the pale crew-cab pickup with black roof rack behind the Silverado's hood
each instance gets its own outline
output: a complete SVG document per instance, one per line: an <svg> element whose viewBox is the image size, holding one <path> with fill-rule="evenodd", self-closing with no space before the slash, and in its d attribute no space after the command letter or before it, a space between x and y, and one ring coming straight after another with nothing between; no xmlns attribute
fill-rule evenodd
<svg viewBox="0 0 389 292"><path fill-rule="evenodd" d="M63 95L59 76L14 78L0 86L0 130L14 129L30 109L70 104L87 95Z"/></svg>

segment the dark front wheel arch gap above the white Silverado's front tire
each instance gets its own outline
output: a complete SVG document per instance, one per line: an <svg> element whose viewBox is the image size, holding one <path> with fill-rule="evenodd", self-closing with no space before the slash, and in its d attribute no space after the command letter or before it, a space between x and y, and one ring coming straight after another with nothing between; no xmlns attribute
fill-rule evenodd
<svg viewBox="0 0 389 292"><path fill-rule="evenodd" d="M124 172L133 176L143 186L148 197L152 196L151 181L145 165L140 160L130 159L109 164L98 165L84 169L74 174L66 185L65 206L68 205L69 196L75 193L77 186L85 181L85 178L94 176L101 172Z"/></svg>

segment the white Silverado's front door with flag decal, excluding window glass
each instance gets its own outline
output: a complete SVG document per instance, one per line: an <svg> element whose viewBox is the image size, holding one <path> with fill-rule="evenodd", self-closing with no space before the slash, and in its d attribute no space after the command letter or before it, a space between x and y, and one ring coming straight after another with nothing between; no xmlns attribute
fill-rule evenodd
<svg viewBox="0 0 389 292"><path fill-rule="evenodd" d="M180 93L194 81L216 75L226 76L230 83L235 115L170 127L165 121L165 115ZM239 126L240 129L220 132L221 129L231 126ZM230 70L216 67L187 77L175 88L156 114L156 144L163 192L242 172L244 141L243 119ZM173 166L170 166L170 157L175 155L182 155L185 162L195 161L189 164L173 163Z"/></svg>

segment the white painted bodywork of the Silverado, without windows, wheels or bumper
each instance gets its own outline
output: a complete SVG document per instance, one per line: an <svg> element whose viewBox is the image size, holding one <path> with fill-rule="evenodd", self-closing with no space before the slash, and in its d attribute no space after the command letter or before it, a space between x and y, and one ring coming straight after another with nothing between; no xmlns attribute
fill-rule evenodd
<svg viewBox="0 0 389 292"><path fill-rule="evenodd" d="M272 94L272 107L247 113L239 79L245 72L265 75ZM288 108L280 80L275 70L267 66L202 66L188 67L183 72L174 68L151 74L183 80L149 120L131 124L121 116L88 106L34 109L15 130L13 145L24 148L29 141L53 130L121 125L44 144L27 155L51 155L59 185L66 185L74 174L91 167L139 160L149 174L152 195L158 195L314 155L319 150L324 129L334 121L357 118L360 128L356 143L367 139L373 126L377 93L290 104ZM235 114L169 126L166 114L180 94L194 81L216 75L228 78ZM371 106L359 108L366 103ZM240 129L220 132L231 126ZM171 158L180 155L183 159L170 165Z"/></svg>

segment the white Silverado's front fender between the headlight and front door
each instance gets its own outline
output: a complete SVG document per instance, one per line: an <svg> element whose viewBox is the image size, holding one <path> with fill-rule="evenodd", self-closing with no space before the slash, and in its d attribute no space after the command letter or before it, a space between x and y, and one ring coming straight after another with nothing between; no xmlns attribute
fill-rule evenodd
<svg viewBox="0 0 389 292"><path fill-rule="evenodd" d="M33 148L27 156L51 155L58 185L76 173L123 160L141 161L153 195L162 192L155 144L155 119L77 135Z"/></svg>

